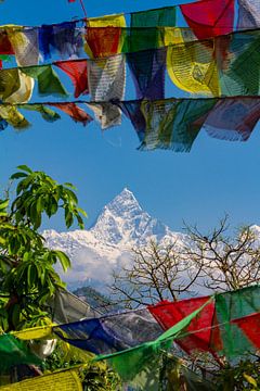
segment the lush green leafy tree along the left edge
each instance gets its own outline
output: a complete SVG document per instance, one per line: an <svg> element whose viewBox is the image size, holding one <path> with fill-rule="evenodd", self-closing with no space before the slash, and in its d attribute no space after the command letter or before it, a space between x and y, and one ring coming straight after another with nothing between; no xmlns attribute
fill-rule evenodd
<svg viewBox="0 0 260 391"><path fill-rule="evenodd" d="M42 217L64 211L69 228L83 227L86 213L78 207L72 184L60 185L43 172L18 166L11 176L18 180L16 197L0 200L0 328L4 331L41 325L49 316L47 302L64 287L54 269L70 266L62 251L44 247L39 234Z"/></svg>

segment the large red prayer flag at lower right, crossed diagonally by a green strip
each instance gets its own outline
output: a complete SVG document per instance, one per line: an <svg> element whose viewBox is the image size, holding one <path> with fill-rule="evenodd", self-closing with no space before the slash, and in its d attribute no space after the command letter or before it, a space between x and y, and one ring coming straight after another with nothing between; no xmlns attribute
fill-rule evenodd
<svg viewBox="0 0 260 391"><path fill-rule="evenodd" d="M162 301L157 305L148 306L148 310L159 325L167 330L199 308L208 300L209 297L186 299L173 303ZM198 316L191 321L187 331L192 333L176 342L187 353L191 353L193 350L210 351L213 313L214 303L211 301Z"/></svg>

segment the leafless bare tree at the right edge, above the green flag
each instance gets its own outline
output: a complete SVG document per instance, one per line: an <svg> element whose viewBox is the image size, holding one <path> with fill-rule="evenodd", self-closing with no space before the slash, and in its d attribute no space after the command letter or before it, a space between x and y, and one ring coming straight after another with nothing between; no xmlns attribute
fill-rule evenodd
<svg viewBox="0 0 260 391"><path fill-rule="evenodd" d="M235 290L260 280L260 245L250 226L229 235L229 216L207 236L197 226L185 225L190 237L183 256L202 270L200 281L210 290ZM197 280L198 281L198 280Z"/></svg>

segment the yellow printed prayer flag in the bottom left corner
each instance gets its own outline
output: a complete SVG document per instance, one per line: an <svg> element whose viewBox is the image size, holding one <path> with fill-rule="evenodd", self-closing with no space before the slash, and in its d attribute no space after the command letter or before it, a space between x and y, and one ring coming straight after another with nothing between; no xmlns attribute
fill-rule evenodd
<svg viewBox="0 0 260 391"><path fill-rule="evenodd" d="M83 391L79 369L66 369L37 376L13 384L0 387L1 391Z"/></svg>

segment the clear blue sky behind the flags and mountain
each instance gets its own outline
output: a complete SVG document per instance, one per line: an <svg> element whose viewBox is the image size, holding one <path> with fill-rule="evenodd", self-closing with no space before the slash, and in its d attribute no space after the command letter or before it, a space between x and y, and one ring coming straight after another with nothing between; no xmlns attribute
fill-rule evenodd
<svg viewBox="0 0 260 391"><path fill-rule="evenodd" d="M166 0L86 0L89 16L171 5ZM79 0L5 0L1 24L40 25L81 17ZM169 86L168 86L169 87ZM168 88L174 94L174 88ZM83 128L65 115L55 124L27 115L30 129L0 134L0 186L4 187L20 164L43 169L78 188L88 212L87 227L104 204L123 187L133 191L153 216L180 230L182 220L212 227L227 212L232 224L260 224L259 126L246 143L219 141L200 133L191 153L139 152L138 138L128 121L101 133L94 123ZM46 228L63 230L61 218Z"/></svg>

